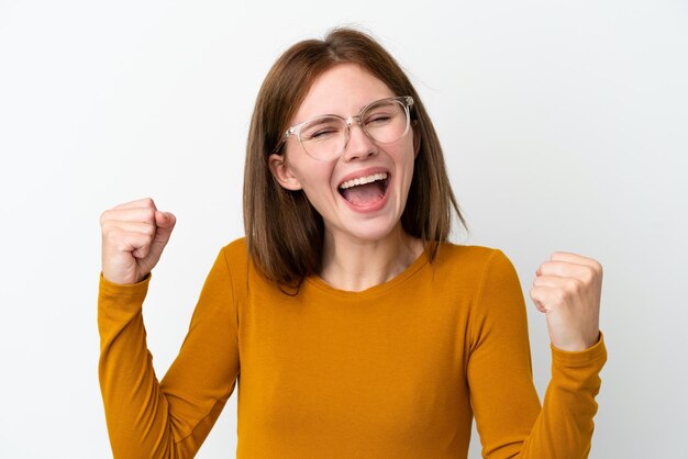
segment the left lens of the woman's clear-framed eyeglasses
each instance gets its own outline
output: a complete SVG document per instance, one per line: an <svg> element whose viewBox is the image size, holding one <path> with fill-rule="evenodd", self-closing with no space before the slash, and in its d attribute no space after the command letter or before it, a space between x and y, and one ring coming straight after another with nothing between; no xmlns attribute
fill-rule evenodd
<svg viewBox="0 0 688 459"><path fill-rule="evenodd" d="M321 116L301 127L301 145L310 156L328 160L346 144L346 122L339 117Z"/></svg>

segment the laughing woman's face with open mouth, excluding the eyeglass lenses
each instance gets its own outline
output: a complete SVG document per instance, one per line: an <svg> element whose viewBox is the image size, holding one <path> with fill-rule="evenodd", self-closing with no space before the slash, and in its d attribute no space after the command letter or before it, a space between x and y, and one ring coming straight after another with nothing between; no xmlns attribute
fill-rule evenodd
<svg viewBox="0 0 688 459"><path fill-rule="evenodd" d="M290 125L322 114L346 119L373 101L396 96L406 94L395 94L355 64L337 65L314 81ZM409 128L400 139L378 144L353 123L346 148L329 161L310 157L297 136L290 136L285 157L270 156L270 169L282 187L303 190L323 217L326 237L377 242L400 225L413 177L413 136ZM357 178L378 180L353 186Z"/></svg>

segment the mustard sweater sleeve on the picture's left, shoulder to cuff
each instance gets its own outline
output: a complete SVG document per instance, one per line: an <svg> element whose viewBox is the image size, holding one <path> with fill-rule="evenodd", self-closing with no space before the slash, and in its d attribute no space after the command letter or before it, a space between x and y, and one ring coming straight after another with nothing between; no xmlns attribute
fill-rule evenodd
<svg viewBox="0 0 688 459"><path fill-rule="evenodd" d="M179 355L158 382L142 304L151 276L122 286L100 276L99 379L114 458L191 458L238 374L237 315L224 250L201 290Z"/></svg>

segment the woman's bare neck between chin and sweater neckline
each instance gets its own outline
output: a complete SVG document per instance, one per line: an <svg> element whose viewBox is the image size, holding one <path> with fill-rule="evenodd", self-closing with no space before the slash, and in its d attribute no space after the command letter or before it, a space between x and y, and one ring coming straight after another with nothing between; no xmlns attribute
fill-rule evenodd
<svg viewBox="0 0 688 459"><path fill-rule="evenodd" d="M358 292L395 278L422 251L422 240L406 234L401 225L374 242L326 232L320 277L335 289Z"/></svg>

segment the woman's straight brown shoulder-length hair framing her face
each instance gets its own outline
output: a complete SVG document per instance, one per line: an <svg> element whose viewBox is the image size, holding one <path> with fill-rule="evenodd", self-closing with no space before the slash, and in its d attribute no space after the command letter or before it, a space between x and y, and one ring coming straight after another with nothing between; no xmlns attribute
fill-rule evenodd
<svg viewBox="0 0 688 459"><path fill-rule="evenodd" d="M411 117L420 134L413 178L401 225L423 240L434 260L447 239L452 210L466 227L446 173L440 139L415 89L392 56L369 35L334 29L324 40L307 40L287 49L269 70L256 99L246 145L244 226L255 266L281 284L297 287L320 271L324 224L301 190L282 188L268 167L291 117L311 85L342 63L362 66L396 96L411 96Z"/></svg>

